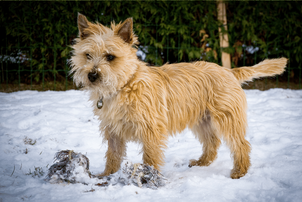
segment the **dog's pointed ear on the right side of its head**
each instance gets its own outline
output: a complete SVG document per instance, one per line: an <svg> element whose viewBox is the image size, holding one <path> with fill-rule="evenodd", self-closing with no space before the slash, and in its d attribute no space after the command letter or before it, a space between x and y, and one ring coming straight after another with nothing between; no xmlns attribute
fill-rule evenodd
<svg viewBox="0 0 302 202"><path fill-rule="evenodd" d="M133 44L133 20L132 17L127 18L120 26L117 27L115 33L126 43Z"/></svg>

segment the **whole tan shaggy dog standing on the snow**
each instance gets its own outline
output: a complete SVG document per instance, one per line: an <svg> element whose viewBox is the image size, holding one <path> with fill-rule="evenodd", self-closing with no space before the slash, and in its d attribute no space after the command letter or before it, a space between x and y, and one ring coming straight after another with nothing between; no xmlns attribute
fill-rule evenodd
<svg viewBox="0 0 302 202"><path fill-rule="evenodd" d="M186 127L203 147L190 167L210 165L222 138L234 161L231 178L247 173L251 146L245 139L247 105L241 84L281 74L286 58L234 69L204 61L148 66L137 58L132 18L108 28L79 14L78 26L71 72L89 93L108 143L105 170L99 176L120 169L129 141L142 145L143 163L160 169L168 137Z"/></svg>

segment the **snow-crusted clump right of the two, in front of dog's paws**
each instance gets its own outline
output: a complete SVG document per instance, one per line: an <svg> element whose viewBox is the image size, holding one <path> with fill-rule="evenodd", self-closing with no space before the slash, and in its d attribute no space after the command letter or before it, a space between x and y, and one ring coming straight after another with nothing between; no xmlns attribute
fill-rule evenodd
<svg viewBox="0 0 302 202"><path fill-rule="evenodd" d="M135 185L140 188L148 187L157 189L165 185L163 176L153 166L148 164L135 163L132 164L129 160L124 160L121 164L121 169L114 174L100 178L102 183L98 186L108 186L109 184L116 185L124 183L125 185Z"/></svg>

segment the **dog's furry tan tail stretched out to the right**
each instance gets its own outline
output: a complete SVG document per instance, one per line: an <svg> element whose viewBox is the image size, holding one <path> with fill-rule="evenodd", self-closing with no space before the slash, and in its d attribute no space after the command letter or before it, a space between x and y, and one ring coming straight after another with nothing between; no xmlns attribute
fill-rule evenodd
<svg viewBox="0 0 302 202"><path fill-rule="evenodd" d="M252 81L253 78L271 77L284 72L288 59L265 59L252 67L233 68L231 71L240 83Z"/></svg>

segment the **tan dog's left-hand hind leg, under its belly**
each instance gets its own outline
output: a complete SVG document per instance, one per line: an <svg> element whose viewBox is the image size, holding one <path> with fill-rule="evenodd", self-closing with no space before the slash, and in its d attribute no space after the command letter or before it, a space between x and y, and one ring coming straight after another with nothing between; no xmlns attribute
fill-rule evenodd
<svg viewBox="0 0 302 202"><path fill-rule="evenodd" d="M203 154L198 160L191 159L189 167L208 166L217 158L217 150L221 144L217 132L211 126L210 115L203 117L201 122L191 128L195 137L202 144Z"/></svg>

